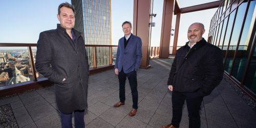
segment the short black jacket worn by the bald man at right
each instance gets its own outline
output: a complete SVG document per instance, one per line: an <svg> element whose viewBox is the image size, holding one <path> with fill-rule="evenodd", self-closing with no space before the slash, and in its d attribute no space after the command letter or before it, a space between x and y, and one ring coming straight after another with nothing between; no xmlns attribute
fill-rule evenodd
<svg viewBox="0 0 256 128"><path fill-rule="evenodd" d="M187 47L188 42L177 50L167 84L177 92L207 96L223 78L222 52L204 38L189 51Z"/></svg>

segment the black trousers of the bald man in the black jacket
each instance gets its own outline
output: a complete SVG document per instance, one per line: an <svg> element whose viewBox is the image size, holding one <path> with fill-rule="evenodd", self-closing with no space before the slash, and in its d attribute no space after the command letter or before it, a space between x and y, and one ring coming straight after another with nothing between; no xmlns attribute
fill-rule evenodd
<svg viewBox="0 0 256 128"><path fill-rule="evenodd" d="M179 127L182 115L182 108L184 101L187 103L189 128L200 127L200 110L203 97L199 96L195 92L180 93L173 91L172 103L173 103L173 119L172 124Z"/></svg>

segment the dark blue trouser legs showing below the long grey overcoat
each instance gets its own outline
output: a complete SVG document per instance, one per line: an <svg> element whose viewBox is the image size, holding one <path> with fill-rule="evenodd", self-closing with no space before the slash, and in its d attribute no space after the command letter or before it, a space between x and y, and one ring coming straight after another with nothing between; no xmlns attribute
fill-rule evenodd
<svg viewBox="0 0 256 128"><path fill-rule="evenodd" d="M86 125L84 124L84 121L83 121L83 117L84 117L84 110L74 111L75 127L79 127L79 128L86 127ZM60 119L61 119L61 127L62 128L72 127L72 113L70 113L70 114L61 113Z"/></svg>

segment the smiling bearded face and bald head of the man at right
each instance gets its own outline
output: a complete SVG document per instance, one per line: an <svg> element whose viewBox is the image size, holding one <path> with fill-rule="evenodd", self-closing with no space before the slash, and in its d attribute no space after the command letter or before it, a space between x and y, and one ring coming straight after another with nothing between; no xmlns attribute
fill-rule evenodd
<svg viewBox="0 0 256 128"><path fill-rule="evenodd" d="M204 29L200 24L192 24L189 26L187 31L187 38L190 43L195 43L201 40L202 35L204 34Z"/></svg>

